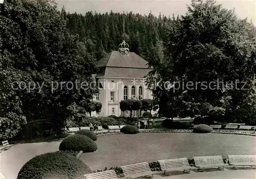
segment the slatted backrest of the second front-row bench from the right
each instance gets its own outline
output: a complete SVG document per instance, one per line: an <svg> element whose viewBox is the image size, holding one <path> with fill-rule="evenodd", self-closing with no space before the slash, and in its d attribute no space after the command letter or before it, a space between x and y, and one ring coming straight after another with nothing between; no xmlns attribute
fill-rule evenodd
<svg viewBox="0 0 256 179"><path fill-rule="evenodd" d="M203 156L203 157L193 157L195 160L195 165L204 165L204 164L223 164L222 156Z"/></svg>

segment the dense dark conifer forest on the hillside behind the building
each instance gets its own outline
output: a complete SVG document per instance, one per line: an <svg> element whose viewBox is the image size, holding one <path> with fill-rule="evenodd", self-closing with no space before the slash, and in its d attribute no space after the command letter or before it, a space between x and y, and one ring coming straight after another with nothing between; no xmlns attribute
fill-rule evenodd
<svg viewBox="0 0 256 179"><path fill-rule="evenodd" d="M97 60L111 50L118 50L123 37L130 46L130 52L135 52L145 60L150 60L152 57L157 58L155 60L162 59L166 34L172 28L173 22L180 18L179 15L155 16L151 12L148 15L133 12L120 14L112 11L103 14L97 12L77 14L67 13L64 7L61 14L68 20L70 33L79 35L80 41ZM251 38L256 37L256 28L252 22L248 33Z"/></svg>

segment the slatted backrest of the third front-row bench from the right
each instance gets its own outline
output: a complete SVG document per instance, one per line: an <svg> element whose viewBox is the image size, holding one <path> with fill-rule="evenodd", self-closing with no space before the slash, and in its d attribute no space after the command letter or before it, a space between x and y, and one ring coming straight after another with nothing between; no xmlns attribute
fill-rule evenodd
<svg viewBox="0 0 256 179"><path fill-rule="evenodd" d="M190 167L187 158L159 160L162 170L168 168Z"/></svg>

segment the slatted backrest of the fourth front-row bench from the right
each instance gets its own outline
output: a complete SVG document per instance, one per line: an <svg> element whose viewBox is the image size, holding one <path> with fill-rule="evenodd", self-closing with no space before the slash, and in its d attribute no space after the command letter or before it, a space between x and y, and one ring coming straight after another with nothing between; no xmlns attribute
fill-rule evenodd
<svg viewBox="0 0 256 179"><path fill-rule="evenodd" d="M121 166L124 176L129 176L136 173L151 171L150 165L147 162L138 164Z"/></svg>

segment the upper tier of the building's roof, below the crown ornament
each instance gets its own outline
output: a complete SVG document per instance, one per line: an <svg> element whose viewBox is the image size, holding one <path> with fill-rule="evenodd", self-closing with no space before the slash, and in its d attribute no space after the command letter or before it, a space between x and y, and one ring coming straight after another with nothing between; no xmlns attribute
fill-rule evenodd
<svg viewBox="0 0 256 179"><path fill-rule="evenodd" d="M102 58L97 67L123 67L123 68L146 68L148 69L147 61L130 52L129 56L123 56L118 51L112 51L105 58Z"/></svg>

